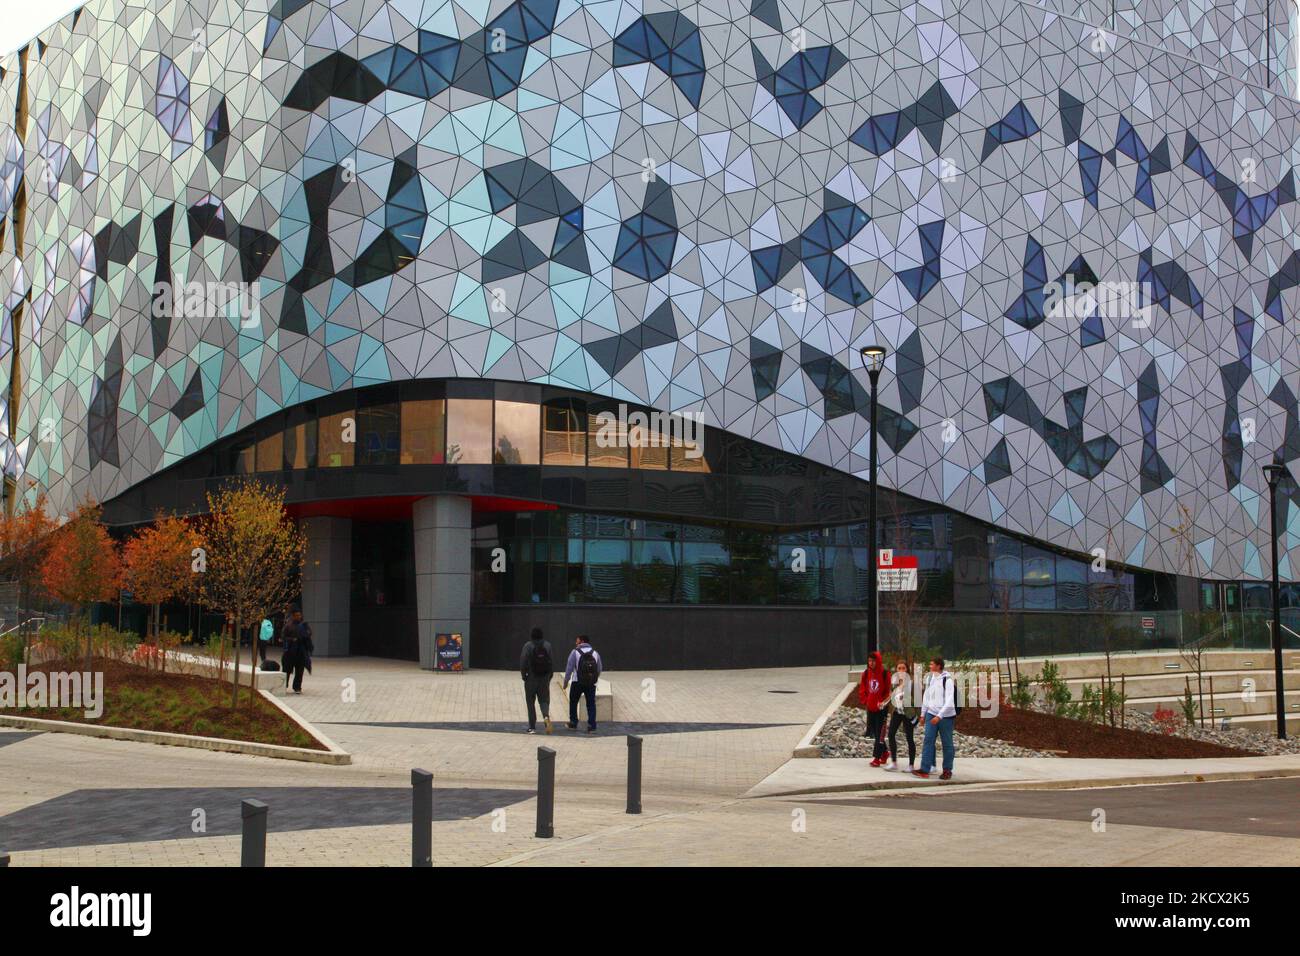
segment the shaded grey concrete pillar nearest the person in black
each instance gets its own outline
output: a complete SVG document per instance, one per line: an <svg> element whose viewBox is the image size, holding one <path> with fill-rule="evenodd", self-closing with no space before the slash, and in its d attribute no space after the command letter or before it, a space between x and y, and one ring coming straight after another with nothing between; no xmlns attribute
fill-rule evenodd
<svg viewBox="0 0 1300 956"><path fill-rule="evenodd" d="M352 519L304 518L303 532L303 619L318 657L343 657L352 626Z"/></svg>

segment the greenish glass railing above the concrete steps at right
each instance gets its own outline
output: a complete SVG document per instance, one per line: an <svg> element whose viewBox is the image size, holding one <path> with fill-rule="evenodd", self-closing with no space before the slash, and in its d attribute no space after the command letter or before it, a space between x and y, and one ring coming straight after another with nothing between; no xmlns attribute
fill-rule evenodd
<svg viewBox="0 0 1300 956"><path fill-rule="evenodd" d="M888 610L880 615L880 646L887 657L905 645L913 652L936 650L948 659L1058 654L1096 654L1176 650L1197 643L1214 649L1271 648L1271 611L1234 614L1218 611L975 611L933 609L913 611L901 639L898 623ZM1300 609L1282 611L1282 646L1300 648ZM866 661L867 622L853 622L850 663ZM922 650L922 653L926 653Z"/></svg>

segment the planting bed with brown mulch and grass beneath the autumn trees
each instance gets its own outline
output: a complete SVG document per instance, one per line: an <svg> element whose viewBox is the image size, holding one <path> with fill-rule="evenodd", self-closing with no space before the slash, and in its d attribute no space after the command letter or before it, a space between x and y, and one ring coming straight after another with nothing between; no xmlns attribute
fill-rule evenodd
<svg viewBox="0 0 1300 956"><path fill-rule="evenodd" d="M84 661L30 665L27 674L64 670L82 671ZM75 708L0 708L0 714L328 749L247 685L239 688L239 706L231 709L229 682L218 683L192 674L164 674L107 658L95 658L91 671L104 674L104 713L99 719L90 719L84 710ZM250 693L254 695L252 706L248 706Z"/></svg>

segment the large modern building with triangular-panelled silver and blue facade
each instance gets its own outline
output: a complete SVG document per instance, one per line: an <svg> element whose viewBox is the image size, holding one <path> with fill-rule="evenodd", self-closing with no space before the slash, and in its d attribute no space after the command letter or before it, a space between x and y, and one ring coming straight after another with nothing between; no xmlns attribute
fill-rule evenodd
<svg viewBox="0 0 1300 956"><path fill-rule="evenodd" d="M92 0L0 60L6 506L127 528L281 483L328 654L508 667L540 624L616 667L842 662L879 343L879 544L922 581L887 632L1228 628L1260 466L1300 457L1296 33L1291 0Z"/></svg>

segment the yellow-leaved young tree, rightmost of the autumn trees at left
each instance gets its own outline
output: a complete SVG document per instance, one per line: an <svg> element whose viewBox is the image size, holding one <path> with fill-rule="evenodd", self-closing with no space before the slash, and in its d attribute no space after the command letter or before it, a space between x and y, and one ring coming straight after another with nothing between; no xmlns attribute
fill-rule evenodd
<svg viewBox="0 0 1300 956"><path fill-rule="evenodd" d="M239 702L239 635L298 593L307 538L285 514L283 489L260 481L233 481L216 494L209 493L200 535L203 553L195 570L203 601L234 623L234 676L230 682L230 706L234 708ZM252 659L257 659L256 653ZM250 674L250 706L255 680Z"/></svg>

